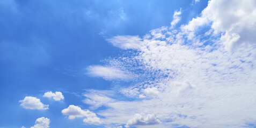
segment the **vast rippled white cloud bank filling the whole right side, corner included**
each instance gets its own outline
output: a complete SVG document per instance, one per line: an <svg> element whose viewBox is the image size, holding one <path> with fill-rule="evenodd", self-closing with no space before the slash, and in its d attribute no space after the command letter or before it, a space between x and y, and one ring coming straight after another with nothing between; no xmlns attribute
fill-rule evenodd
<svg viewBox="0 0 256 128"><path fill-rule="evenodd" d="M212 0L200 17L178 30L151 30L140 40L134 54L128 52L106 62L139 77L128 86L116 85L108 93L86 93L84 102L94 108L107 108L97 113L104 117L101 120L106 125L255 124L255 3ZM132 36L123 37L131 37L127 39L131 44L136 42L131 41ZM237 44L239 47L233 49Z"/></svg>

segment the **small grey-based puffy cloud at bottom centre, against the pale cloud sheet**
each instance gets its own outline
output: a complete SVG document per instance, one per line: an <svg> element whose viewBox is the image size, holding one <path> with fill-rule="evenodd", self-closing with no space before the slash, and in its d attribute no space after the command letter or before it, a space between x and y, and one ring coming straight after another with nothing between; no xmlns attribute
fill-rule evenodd
<svg viewBox="0 0 256 128"><path fill-rule="evenodd" d="M154 114L135 114L132 119L128 121L127 126L134 125L153 125L161 123Z"/></svg>

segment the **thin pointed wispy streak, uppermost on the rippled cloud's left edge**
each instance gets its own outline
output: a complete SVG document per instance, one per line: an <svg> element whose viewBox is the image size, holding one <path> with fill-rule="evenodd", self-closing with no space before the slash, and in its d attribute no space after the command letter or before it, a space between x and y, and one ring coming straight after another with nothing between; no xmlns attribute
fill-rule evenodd
<svg viewBox="0 0 256 128"><path fill-rule="evenodd" d="M138 36L114 36L106 40L112 43L114 46L119 47L120 49L137 50L141 46L142 39Z"/></svg>

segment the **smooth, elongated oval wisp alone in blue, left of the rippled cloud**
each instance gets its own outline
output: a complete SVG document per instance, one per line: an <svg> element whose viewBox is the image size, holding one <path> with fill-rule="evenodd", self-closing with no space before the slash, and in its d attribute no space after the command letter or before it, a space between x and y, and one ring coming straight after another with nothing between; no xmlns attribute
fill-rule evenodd
<svg viewBox="0 0 256 128"><path fill-rule="evenodd" d="M131 74L129 74L127 71L123 71L115 67L89 66L87 71L91 76L103 77L106 80L128 80L132 78Z"/></svg>

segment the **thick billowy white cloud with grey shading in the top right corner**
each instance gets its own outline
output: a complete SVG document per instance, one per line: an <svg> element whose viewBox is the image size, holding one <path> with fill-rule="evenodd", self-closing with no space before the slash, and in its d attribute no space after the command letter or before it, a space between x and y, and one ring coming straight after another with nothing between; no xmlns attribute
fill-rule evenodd
<svg viewBox="0 0 256 128"><path fill-rule="evenodd" d="M232 50L242 43L255 44L256 37L256 2L245 1L209 1L201 17L194 18L182 29L189 33L188 37L194 36L195 30L208 23L214 33L223 32L221 41L226 49Z"/></svg>

